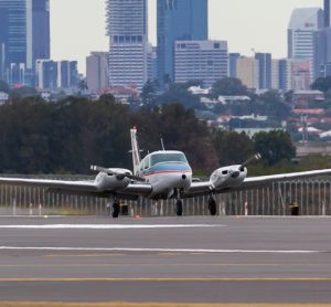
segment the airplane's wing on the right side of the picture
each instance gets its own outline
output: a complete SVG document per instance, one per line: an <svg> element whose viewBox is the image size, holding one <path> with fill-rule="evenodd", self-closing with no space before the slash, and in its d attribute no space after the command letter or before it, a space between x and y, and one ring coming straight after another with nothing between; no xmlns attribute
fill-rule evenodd
<svg viewBox="0 0 331 307"><path fill-rule="evenodd" d="M331 174L331 169L324 169L324 170L312 170L312 171L302 171L302 172L249 177L246 178L244 182L237 187L220 188L218 190L214 190L210 181L192 182L190 190L184 197L193 198L193 197L211 194L211 192L227 193L233 191L247 190L254 187L268 186L273 182L278 182L278 181L296 180L296 179L311 178L311 177L323 177L330 174Z"/></svg>

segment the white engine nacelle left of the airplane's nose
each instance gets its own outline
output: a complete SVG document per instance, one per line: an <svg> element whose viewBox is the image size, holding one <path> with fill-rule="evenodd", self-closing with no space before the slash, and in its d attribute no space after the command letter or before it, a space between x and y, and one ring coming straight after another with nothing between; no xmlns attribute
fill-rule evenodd
<svg viewBox="0 0 331 307"><path fill-rule="evenodd" d="M99 191L117 191L127 188L130 183L130 179L121 176L122 174L132 174L130 170L127 169L109 169L114 174L106 172L99 172L95 179L95 183L98 187Z"/></svg>

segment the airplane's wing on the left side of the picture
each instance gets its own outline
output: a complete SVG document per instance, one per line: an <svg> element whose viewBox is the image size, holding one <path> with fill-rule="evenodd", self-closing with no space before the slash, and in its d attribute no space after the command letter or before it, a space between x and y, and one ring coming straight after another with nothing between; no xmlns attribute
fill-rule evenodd
<svg viewBox="0 0 331 307"><path fill-rule="evenodd" d="M147 197L151 193L151 186L145 183L131 183L122 190L99 190L94 180L72 181L72 180L45 180L45 179L24 179L0 177L0 184L40 187L49 192L63 194L78 194L107 198L113 194L119 199L135 200L138 197Z"/></svg>

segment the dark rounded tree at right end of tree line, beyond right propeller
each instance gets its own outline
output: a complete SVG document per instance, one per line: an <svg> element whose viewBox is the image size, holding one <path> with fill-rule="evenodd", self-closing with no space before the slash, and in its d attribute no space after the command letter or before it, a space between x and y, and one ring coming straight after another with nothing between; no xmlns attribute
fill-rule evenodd
<svg viewBox="0 0 331 307"><path fill-rule="evenodd" d="M284 130L256 134L253 141L255 150L261 155L269 166L296 157L296 147L290 135Z"/></svg>

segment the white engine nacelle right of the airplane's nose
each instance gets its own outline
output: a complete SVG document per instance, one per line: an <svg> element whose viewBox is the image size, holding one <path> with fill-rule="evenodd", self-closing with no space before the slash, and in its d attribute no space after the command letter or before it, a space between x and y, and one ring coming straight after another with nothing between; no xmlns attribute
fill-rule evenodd
<svg viewBox="0 0 331 307"><path fill-rule="evenodd" d="M242 166L229 166L215 170L211 176L215 190L239 187L247 177L247 169Z"/></svg>

